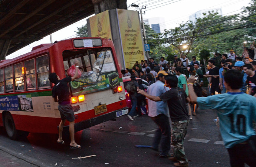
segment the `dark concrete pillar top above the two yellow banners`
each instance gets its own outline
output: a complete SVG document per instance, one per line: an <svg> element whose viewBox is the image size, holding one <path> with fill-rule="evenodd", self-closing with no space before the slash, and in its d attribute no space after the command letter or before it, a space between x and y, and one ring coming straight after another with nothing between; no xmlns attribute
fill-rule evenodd
<svg viewBox="0 0 256 167"><path fill-rule="evenodd" d="M127 0L92 0L95 14L115 8L127 9Z"/></svg>

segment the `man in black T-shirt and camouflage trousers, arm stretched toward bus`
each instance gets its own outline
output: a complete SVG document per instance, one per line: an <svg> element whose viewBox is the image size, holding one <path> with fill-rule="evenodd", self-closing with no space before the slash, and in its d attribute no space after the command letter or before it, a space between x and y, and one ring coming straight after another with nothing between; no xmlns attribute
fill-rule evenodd
<svg viewBox="0 0 256 167"><path fill-rule="evenodd" d="M160 96L151 96L141 89L138 89L137 92L155 102L161 100L167 102L172 121L171 147L174 153L174 157L170 157L169 159L178 162L174 163L174 166L188 167L188 160L184 152L183 141L187 133L189 122L186 103L189 102L190 99L183 89L177 87L178 78L175 75L166 75L164 79L165 85L169 87L170 90Z"/></svg>

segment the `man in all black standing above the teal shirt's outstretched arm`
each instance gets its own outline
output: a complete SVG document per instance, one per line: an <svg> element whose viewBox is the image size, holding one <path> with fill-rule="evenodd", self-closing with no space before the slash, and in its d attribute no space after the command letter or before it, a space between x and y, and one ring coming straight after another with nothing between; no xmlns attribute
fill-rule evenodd
<svg viewBox="0 0 256 167"><path fill-rule="evenodd" d="M211 84L211 95L215 95L215 91L219 92L219 67L216 67L214 60L209 60L208 65L210 68L209 70L209 84Z"/></svg>

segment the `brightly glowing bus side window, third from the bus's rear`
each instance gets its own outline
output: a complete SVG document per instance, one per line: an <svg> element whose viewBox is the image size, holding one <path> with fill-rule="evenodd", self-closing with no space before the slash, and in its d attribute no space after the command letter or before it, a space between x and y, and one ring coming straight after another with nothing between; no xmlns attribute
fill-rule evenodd
<svg viewBox="0 0 256 167"><path fill-rule="evenodd" d="M24 74L22 74L23 63L16 64L14 67L15 91L24 91Z"/></svg>

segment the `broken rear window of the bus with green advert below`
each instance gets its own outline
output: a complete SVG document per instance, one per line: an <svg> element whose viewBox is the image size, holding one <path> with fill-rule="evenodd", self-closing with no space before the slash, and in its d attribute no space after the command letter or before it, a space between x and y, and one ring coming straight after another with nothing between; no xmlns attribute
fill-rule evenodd
<svg viewBox="0 0 256 167"><path fill-rule="evenodd" d="M82 76L70 83L73 94L109 89L119 83L113 54L109 48L64 51L63 61L66 75L68 75L67 64L70 67L75 62L80 63L79 70Z"/></svg>

